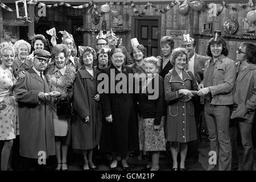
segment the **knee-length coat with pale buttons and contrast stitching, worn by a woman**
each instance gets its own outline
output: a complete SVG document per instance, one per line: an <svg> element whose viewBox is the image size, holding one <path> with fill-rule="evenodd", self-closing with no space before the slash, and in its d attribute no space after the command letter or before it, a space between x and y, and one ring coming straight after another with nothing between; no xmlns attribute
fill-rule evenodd
<svg viewBox="0 0 256 182"><path fill-rule="evenodd" d="M192 100L181 102L180 89L197 90L192 72L182 72L183 80L174 69L164 77L164 95L168 102L165 133L168 141L189 142L197 139L195 111Z"/></svg>

